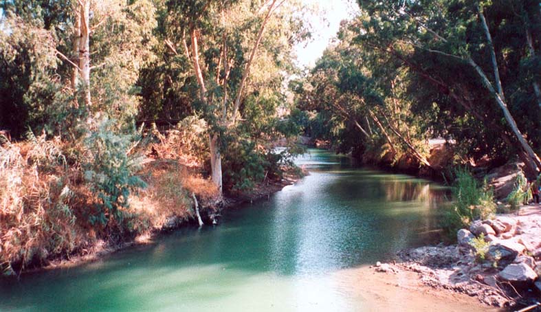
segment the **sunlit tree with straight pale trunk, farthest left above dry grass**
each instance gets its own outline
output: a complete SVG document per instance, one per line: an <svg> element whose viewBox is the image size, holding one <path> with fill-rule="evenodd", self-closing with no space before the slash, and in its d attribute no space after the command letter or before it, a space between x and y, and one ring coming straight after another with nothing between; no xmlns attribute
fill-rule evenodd
<svg viewBox="0 0 541 312"><path fill-rule="evenodd" d="M135 82L153 58L153 1L4 1L2 8L14 30L1 34L4 68L12 73L2 85L9 93L2 101L8 107L28 103L27 118L18 120L22 129L65 134L78 120L104 113L122 122L133 119L139 105ZM22 53L8 54L17 49Z"/></svg>

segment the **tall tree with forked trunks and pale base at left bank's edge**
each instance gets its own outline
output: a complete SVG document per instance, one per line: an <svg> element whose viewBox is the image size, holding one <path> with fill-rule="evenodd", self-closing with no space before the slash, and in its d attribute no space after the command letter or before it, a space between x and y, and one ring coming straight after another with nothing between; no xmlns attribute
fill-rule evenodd
<svg viewBox="0 0 541 312"><path fill-rule="evenodd" d="M221 145L239 120L247 94L279 91L291 71L291 48L305 32L298 3L169 1L164 45L189 63L193 107L209 126L212 181L222 190ZM247 122L252 122L247 120Z"/></svg>

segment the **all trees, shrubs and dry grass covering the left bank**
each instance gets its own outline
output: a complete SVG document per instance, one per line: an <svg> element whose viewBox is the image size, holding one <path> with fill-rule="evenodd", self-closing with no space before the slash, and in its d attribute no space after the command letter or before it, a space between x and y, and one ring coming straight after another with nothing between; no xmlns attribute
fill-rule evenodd
<svg viewBox="0 0 541 312"><path fill-rule="evenodd" d="M196 195L247 190L289 164L289 153L271 151L300 131L278 114L298 70L292 49L309 36L300 3L0 8L5 272L185 218Z"/></svg>

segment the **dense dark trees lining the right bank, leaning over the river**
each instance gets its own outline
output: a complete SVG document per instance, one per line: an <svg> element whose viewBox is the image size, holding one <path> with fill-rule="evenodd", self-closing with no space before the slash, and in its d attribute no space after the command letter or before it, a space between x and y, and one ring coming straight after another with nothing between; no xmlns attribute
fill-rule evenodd
<svg viewBox="0 0 541 312"><path fill-rule="evenodd" d="M539 174L538 1L358 3L360 16L292 84L309 135L428 167L428 140L442 137L458 163L518 155L529 179Z"/></svg>

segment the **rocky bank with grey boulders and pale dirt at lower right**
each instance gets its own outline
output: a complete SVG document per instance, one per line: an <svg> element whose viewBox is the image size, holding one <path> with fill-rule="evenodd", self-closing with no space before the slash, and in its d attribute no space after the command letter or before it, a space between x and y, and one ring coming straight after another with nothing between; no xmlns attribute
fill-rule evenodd
<svg viewBox="0 0 541 312"><path fill-rule="evenodd" d="M390 275L414 272L434 291L466 294L491 307L536 304L541 298L541 206L523 206L474 223L470 230L459 231L457 245L404 250L395 263L372 269Z"/></svg>

